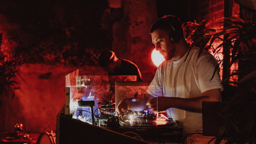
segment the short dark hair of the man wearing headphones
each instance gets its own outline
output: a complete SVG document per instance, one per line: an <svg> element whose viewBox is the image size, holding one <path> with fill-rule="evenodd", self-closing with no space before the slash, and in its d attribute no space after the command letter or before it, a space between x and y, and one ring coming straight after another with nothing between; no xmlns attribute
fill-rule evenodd
<svg viewBox="0 0 256 144"><path fill-rule="evenodd" d="M179 37L184 37L181 21L178 17L173 15L165 15L155 21L155 23L150 27L150 33L152 34L157 29L163 29L168 32L173 32L173 28L175 29L175 33Z"/></svg>

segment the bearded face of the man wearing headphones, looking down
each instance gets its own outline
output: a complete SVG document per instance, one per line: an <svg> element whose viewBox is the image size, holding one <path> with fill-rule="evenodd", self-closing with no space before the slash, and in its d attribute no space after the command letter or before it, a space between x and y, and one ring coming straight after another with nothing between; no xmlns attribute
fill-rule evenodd
<svg viewBox="0 0 256 144"><path fill-rule="evenodd" d="M176 49L174 43L170 41L169 33L166 30L157 29L152 32L151 37L156 51L159 51L166 60L170 60Z"/></svg>

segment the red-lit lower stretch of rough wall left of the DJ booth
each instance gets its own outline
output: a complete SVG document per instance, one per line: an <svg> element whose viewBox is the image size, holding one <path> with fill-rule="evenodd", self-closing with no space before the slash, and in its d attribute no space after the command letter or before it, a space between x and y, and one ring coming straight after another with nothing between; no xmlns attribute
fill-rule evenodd
<svg viewBox="0 0 256 144"><path fill-rule="evenodd" d="M14 132L16 123L26 132L55 131L56 114L65 103L65 76L77 67L24 64L16 74L20 89L5 97L4 129ZM85 66L88 75L104 74L98 67Z"/></svg>

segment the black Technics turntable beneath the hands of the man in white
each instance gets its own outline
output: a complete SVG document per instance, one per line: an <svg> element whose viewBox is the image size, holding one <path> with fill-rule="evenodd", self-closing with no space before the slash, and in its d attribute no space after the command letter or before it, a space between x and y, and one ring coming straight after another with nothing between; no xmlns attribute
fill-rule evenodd
<svg viewBox="0 0 256 144"><path fill-rule="evenodd" d="M119 125L117 124L119 122ZM148 142L179 142L182 138L182 128L163 113L151 110L112 116L101 123L100 127L107 128L132 137L139 137Z"/></svg>

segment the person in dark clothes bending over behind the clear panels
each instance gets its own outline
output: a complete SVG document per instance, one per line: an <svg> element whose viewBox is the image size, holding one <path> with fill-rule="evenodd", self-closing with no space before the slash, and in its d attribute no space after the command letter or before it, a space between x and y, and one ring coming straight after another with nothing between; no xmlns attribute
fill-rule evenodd
<svg viewBox="0 0 256 144"><path fill-rule="evenodd" d="M126 59L118 59L113 51L101 52L99 65L109 75L136 75L137 81L142 81L142 75L137 65Z"/></svg>

